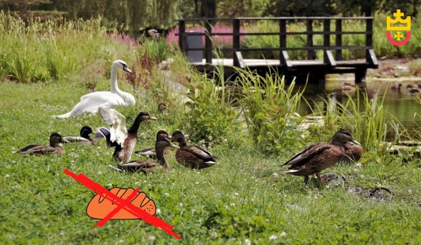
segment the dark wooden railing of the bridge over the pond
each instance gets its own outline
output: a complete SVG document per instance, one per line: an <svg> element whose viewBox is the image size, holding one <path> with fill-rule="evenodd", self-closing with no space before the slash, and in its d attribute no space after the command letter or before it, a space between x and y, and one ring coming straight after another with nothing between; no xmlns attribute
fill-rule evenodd
<svg viewBox="0 0 421 245"><path fill-rule="evenodd" d="M242 22L253 22L261 20L276 21L279 24L278 32L242 32ZM360 25L361 21L365 22L365 30L361 31L343 31L342 24L345 20L356 21L356 24ZM307 60L315 59L315 51L323 50L323 62L332 66L341 65L342 61L342 50L346 49L362 49L366 50L366 63L368 65L377 66L376 56L373 51L373 17L267 17L267 18L199 18L199 19L180 19L178 21L179 28L179 39L178 44L180 49L184 52L188 50L202 50L206 63L212 63L212 53L215 48L212 45L212 37L214 36L231 36L232 47L218 48L222 51L232 51L232 58L235 66L241 66L239 55L241 52L246 51L279 51L280 62L282 65L287 67L291 66L288 52L301 50L307 52ZM358 22L359 21L359 22ZM231 22L232 33L218 33L213 31L213 26L217 22ZM294 31L287 27L289 22L305 22L305 31ZM313 30L314 22L322 22L323 30ZM331 30L334 22L335 30ZM186 32L186 26L192 26L194 24L201 25L204 29L204 33L189 33ZM364 27L363 27L364 28ZM305 35L305 45L300 47L291 47L288 45L287 36L290 35ZM323 35L323 45L314 45L314 35ZM335 35L335 44L331 45L331 35ZM343 35L365 35L365 45L343 45ZM186 46L186 38L188 36L205 36L205 45L203 48L188 48ZM274 47L261 47L251 48L242 47L240 38L242 36L278 36L279 45ZM290 43L291 44L291 43ZM332 53L335 50L335 57ZM345 62L342 62L345 63ZM343 65L343 64L342 64Z"/></svg>

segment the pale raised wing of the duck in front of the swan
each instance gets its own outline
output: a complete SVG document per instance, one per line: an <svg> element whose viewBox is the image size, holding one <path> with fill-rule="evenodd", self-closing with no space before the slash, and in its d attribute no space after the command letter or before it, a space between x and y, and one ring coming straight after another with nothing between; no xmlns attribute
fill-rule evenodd
<svg viewBox="0 0 421 245"><path fill-rule="evenodd" d="M105 123L110 124L110 140L117 141L123 147L123 142L127 138L126 118L114 109L98 108L99 115Z"/></svg>

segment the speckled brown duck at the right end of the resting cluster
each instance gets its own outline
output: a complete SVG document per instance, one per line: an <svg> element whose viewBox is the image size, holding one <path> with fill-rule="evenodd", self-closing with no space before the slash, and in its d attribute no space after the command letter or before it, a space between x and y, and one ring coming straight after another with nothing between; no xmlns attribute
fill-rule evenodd
<svg viewBox="0 0 421 245"><path fill-rule="evenodd" d="M180 149L175 153L175 160L190 169L202 169L217 164L215 157L200 146L188 146L181 131L172 134L172 142L178 142Z"/></svg>

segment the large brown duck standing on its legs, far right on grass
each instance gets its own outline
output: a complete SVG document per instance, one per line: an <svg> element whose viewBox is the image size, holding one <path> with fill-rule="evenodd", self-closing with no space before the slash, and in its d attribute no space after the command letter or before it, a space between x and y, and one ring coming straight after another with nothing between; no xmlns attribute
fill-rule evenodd
<svg viewBox="0 0 421 245"><path fill-rule="evenodd" d="M297 153L288 162L282 164L290 164L289 170L283 173L291 173L293 175L305 176L304 183L307 184L309 175L315 173L320 181L320 171L326 169L339 160L341 160L345 154L345 143L352 142L361 146L351 135L351 132L347 129L338 130L332 137L330 143L316 142L312 145L305 147L302 151Z"/></svg>

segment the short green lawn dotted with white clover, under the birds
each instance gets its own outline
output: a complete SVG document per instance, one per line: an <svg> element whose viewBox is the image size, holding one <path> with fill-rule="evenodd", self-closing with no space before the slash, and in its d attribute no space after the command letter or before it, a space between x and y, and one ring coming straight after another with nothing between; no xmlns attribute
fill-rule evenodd
<svg viewBox="0 0 421 245"><path fill-rule="evenodd" d="M120 75L121 76L121 75ZM334 187L307 186L303 179L284 175L280 167L293 152L278 157L253 154L252 146L210 151L219 165L189 170L167 157L171 171L121 173L105 141L88 147L65 144L66 154L14 155L29 144L47 144L52 132L77 135L83 125L105 126L99 115L52 119L68 112L86 93L79 82L0 84L0 244L419 244L421 241L421 171L419 161L402 163L393 157L365 154L360 165L338 164L323 171L343 174ZM109 82L100 81L98 90ZM129 91L128 85L120 87ZM138 99L135 107L117 108L131 124L139 111L158 118L141 123L135 150L154 145L155 133L175 129L170 122L180 110L159 114L157 105ZM185 127L188 127L186 125ZM358 139L357 139L358 140ZM296 151L302 146L297 145ZM139 157L133 156L133 160ZM98 220L86 215L94 193L66 175L68 168L100 185L140 187L160 209L157 217L174 226L181 240L141 220ZM356 186L383 186L394 196L384 199L352 194Z"/></svg>

